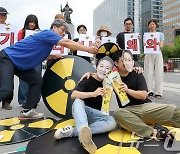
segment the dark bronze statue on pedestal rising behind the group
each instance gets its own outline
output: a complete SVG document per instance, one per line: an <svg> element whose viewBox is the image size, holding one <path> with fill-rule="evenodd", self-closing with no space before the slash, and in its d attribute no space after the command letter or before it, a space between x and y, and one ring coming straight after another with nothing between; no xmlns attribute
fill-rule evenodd
<svg viewBox="0 0 180 154"><path fill-rule="evenodd" d="M71 17L70 14L73 12L72 8L69 7L68 2L65 5L65 7L62 9L62 5L61 5L61 13L64 12L64 20L67 23L71 23Z"/></svg>

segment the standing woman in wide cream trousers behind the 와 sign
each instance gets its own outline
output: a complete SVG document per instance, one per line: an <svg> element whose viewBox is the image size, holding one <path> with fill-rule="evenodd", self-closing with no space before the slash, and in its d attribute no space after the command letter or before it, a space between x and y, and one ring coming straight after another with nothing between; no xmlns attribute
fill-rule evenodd
<svg viewBox="0 0 180 154"><path fill-rule="evenodd" d="M158 26L157 21L152 19L148 22L150 32L155 33ZM160 49L164 46L164 34L160 32L160 42L157 42ZM162 97L163 93L163 55L159 54L145 54L144 58L144 77L147 82L149 98L154 96L158 99Z"/></svg>

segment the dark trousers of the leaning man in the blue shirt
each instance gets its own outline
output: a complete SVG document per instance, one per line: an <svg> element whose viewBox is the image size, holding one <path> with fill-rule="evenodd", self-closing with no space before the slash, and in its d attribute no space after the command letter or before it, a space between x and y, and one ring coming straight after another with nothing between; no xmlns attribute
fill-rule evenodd
<svg viewBox="0 0 180 154"><path fill-rule="evenodd" d="M14 66L11 59L0 51L0 101L6 100L12 95L14 89L14 75L29 85L25 109L36 108L41 94L42 77L35 69L21 71Z"/></svg>

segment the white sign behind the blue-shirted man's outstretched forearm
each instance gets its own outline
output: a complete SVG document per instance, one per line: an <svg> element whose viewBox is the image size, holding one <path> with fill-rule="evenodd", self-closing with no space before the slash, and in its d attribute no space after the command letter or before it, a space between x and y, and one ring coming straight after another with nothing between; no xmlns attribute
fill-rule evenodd
<svg viewBox="0 0 180 154"><path fill-rule="evenodd" d="M94 41L95 41L95 36L88 36L86 34L79 35L79 42L82 45L91 47L93 45ZM85 57L93 57L93 54L85 52L85 51L80 51L80 50L77 50L77 55L85 56Z"/></svg>

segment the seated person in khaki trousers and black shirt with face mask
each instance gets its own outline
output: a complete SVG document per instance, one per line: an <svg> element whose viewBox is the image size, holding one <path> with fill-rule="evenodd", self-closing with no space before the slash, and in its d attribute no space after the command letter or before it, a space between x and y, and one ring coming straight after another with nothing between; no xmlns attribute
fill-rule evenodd
<svg viewBox="0 0 180 154"><path fill-rule="evenodd" d="M119 109L115 111L115 119L119 125L130 132L135 132L141 137L159 136L169 137L165 128L153 128L148 124L155 123L180 127L180 108L174 105L158 104L150 102L147 99L147 85L142 73L138 74L134 71L128 72L124 65L126 56L129 61L133 61L133 56L129 50L116 51L112 59L122 78L120 90L127 93L129 104L122 106L119 99ZM155 125L157 126L157 125ZM160 133L157 133L160 132Z"/></svg>

